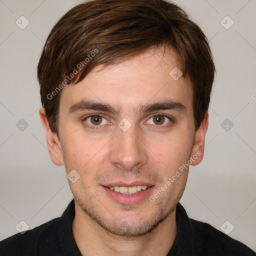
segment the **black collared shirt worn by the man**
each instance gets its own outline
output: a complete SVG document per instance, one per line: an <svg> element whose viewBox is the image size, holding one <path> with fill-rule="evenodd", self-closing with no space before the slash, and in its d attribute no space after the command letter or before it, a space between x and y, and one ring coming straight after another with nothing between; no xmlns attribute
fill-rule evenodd
<svg viewBox="0 0 256 256"><path fill-rule="evenodd" d="M0 241L0 256L81 256L72 233L74 213L72 199L61 217ZM256 255L246 245L211 225L188 218L180 203L176 207L176 223L177 234L166 256Z"/></svg>

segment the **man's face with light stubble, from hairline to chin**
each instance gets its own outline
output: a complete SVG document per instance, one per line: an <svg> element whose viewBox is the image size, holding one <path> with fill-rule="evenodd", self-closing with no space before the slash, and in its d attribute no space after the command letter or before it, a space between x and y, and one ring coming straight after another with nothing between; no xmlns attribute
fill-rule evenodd
<svg viewBox="0 0 256 256"><path fill-rule="evenodd" d="M162 48L98 72L96 67L61 91L62 156L67 173L74 169L80 175L68 181L71 191L82 214L111 233L148 232L175 209L185 187L188 169L171 185L166 182L193 154L192 90L189 80L169 75L176 53L161 57ZM80 100L108 104L119 113L74 107ZM170 107L143 111L163 102ZM164 184L165 191L149 200ZM127 191L123 187L133 187L131 194L120 193Z"/></svg>

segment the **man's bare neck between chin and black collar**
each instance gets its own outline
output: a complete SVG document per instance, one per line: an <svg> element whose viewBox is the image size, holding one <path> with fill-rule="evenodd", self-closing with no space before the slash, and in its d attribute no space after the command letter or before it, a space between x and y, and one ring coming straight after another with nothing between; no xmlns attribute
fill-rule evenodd
<svg viewBox="0 0 256 256"><path fill-rule="evenodd" d="M75 201L72 231L82 255L166 256L176 235L176 209L150 232L124 237L107 232L85 214Z"/></svg>

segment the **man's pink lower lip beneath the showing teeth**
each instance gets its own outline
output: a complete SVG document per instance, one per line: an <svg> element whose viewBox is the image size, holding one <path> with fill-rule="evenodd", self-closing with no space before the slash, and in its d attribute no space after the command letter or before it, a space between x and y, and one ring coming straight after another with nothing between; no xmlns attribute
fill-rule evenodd
<svg viewBox="0 0 256 256"><path fill-rule="evenodd" d="M152 192L153 186L148 187L145 190L140 190L139 192L135 194L122 194L119 192L116 192L114 190L111 190L105 186L102 186L103 189L106 191L107 195L113 199L114 201L118 203L123 203L123 204L135 204L139 203L146 198L149 197L149 194Z"/></svg>

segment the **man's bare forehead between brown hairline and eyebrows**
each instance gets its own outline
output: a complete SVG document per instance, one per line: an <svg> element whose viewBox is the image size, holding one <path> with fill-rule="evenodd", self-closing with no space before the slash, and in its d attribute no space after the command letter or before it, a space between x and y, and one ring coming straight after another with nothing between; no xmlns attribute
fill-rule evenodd
<svg viewBox="0 0 256 256"><path fill-rule="evenodd" d="M163 48L158 48L118 64L96 66L82 81L63 87L60 109L68 112L74 103L86 99L110 104L118 112L135 111L146 103L170 98L189 108L192 104L190 80L182 76L175 80L170 75L177 63L174 50L166 48L163 54Z"/></svg>

